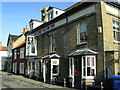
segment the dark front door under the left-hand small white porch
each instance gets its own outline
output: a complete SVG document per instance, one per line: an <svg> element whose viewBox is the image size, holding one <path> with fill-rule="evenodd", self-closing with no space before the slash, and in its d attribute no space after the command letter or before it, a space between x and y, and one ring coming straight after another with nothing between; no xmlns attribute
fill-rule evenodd
<svg viewBox="0 0 120 90"><path fill-rule="evenodd" d="M46 76L46 82L50 83L50 79L51 79L51 61L50 60L45 61L45 76Z"/></svg>

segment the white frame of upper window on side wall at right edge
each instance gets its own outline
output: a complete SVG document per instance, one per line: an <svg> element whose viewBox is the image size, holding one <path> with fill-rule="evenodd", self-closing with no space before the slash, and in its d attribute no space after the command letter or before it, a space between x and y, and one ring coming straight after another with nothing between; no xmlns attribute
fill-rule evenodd
<svg viewBox="0 0 120 90"><path fill-rule="evenodd" d="M117 33L120 33L120 30L117 30L117 28L120 29L120 21L113 19L113 21L115 21L115 25L113 24L113 27L115 27L115 29L113 29L113 36L114 36L114 32L115 32L115 36L114 36L114 42L118 42L120 43L120 41L118 41L118 36ZM118 27L116 26L116 22L118 22Z"/></svg>

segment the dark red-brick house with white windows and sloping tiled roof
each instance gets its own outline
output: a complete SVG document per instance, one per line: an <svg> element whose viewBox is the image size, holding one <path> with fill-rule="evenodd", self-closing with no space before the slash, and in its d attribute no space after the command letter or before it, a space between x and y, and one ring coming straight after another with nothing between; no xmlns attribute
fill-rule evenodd
<svg viewBox="0 0 120 90"><path fill-rule="evenodd" d="M25 48L26 48L26 34L28 27L24 28L17 40L12 44L12 72L15 74L25 74Z"/></svg>

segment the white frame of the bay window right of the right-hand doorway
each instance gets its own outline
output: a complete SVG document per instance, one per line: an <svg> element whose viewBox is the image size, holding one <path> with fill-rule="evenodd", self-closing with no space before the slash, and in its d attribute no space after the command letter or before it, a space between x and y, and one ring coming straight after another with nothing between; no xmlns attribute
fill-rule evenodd
<svg viewBox="0 0 120 90"><path fill-rule="evenodd" d="M86 75L85 76L83 76L83 57L85 57L85 72L86 72ZM94 69L94 76L87 76L87 58L88 57L93 57L94 58L94 67L93 67L93 69ZM96 56L94 56L94 55L87 55L87 56L82 56L82 78L83 79L94 79L94 77L96 77Z"/></svg>

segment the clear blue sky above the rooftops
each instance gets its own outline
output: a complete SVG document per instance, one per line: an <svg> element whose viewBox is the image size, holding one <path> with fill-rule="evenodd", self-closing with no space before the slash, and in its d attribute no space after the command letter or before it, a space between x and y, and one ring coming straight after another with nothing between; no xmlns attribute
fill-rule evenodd
<svg viewBox="0 0 120 90"><path fill-rule="evenodd" d="M41 20L41 9L53 6L66 9L77 2L2 2L2 30L0 41L7 46L8 35L20 35L30 19ZM1 19L0 19L1 20ZM1 27L0 27L1 28Z"/></svg>

